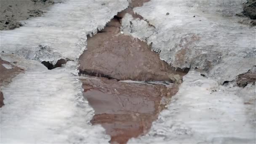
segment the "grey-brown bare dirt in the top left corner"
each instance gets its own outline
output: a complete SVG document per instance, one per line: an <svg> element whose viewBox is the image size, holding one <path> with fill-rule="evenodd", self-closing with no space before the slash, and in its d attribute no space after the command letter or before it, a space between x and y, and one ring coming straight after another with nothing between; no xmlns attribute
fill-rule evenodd
<svg viewBox="0 0 256 144"><path fill-rule="evenodd" d="M53 0L1 0L0 1L0 30L21 27L21 20L41 16Z"/></svg>

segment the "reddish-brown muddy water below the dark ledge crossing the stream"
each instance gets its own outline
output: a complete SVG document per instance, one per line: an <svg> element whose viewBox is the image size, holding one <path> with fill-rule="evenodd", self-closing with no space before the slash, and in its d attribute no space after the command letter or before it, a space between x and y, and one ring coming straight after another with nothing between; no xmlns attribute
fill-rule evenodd
<svg viewBox="0 0 256 144"><path fill-rule="evenodd" d="M159 112L179 89L178 85L124 83L104 77L84 80L84 96L95 110L91 120L101 124L111 143L124 144L147 133Z"/></svg>

